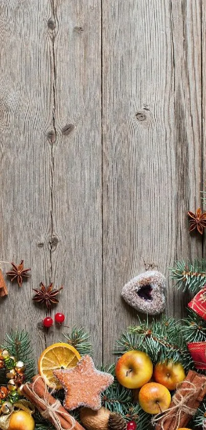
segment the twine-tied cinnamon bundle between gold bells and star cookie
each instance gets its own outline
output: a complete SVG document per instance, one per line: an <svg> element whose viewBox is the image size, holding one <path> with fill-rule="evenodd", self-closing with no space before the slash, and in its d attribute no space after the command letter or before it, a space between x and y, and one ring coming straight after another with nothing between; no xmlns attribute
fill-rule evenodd
<svg viewBox="0 0 206 430"><path fill-rule="evenodd" d="M22 391L45 418L47 415L47 408L50 409L50 406L54 406L57 400L49 393L45 381L40 375L34 376L32 381L33 383L25 384ZM48 414L47 419L52 422L58 430L70 430L72 428L75 430L85 430L60 404L57 410L55 409L51 415Z"/></svg>

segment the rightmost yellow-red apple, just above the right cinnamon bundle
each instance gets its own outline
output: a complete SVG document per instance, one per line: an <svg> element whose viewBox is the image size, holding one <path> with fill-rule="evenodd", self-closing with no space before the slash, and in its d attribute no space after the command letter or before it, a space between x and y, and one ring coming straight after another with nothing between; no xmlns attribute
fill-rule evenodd
<svg viewBox="0 0 206 430"><path fill-rule="evenodd" d="M180 363L169 360L156 364L153 378L159 384L165 385L168 390L175 390L177 384L184 381L185 371Z"/></svg>

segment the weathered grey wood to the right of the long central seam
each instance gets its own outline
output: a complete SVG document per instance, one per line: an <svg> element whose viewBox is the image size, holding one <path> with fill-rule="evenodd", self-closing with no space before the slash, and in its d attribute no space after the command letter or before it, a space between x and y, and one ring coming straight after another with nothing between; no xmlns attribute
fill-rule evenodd
<svg viewBox="0 0 206 430"><path fill-rule="evenodd" d="M104 357L137 322L120 298L145 269L201 256L187 211L201 184L200 2L103 0ZM168 281L167 312L182 299ZM111 328L112 327L112 328Z"/></svg>

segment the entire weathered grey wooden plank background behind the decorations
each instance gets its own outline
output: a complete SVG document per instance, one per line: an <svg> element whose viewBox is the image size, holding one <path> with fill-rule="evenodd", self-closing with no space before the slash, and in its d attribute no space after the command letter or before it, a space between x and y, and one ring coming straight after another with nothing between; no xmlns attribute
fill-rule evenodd
<svg viewBox="0 0 206 430"><path fill-rule="evenodd" d="M21 289L8 280L1 341L24 328L38 357L61 337L39 329L31 300L53 281L64 290L52 316L84 324L96 361L111 361L137 320L124 283L203 255L187 210L205 176L204 6L0 0L0 259L32 268ZM186 303L168 280L168 314Z"/></svg>

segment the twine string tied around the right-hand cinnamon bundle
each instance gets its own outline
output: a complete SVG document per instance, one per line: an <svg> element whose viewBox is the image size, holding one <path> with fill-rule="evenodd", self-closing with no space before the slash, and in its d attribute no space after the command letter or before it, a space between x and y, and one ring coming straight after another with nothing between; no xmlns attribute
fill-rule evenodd
<svg viewBox="0 0 206 430"><path fill-rule="evenodd" d="M172 397L172 402L174 406L169 407L164 411L164 413L159 413L152 418L152 423L156 424L159 420L161 420L161 428L164 430L164 424L168 418L175 418L175 426L174 428L179 428L181 414L187 415L195 415L196 410L187 405L187 403L194 397L195 394L199 392L199 389L190 381L187 381L190 384L190 387L181 388L181 393L178 391ZM187 393L189 391L189 393ZM187 394L186 394L187 393ZM178 394L178 397L177 397Z"/></svg>

